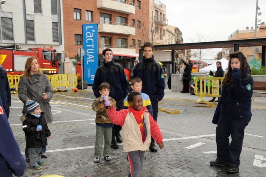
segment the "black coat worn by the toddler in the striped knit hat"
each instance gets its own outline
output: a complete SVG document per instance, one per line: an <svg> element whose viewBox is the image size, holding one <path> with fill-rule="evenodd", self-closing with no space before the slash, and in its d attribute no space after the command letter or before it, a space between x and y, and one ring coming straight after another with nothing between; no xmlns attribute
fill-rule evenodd
<svg viewBox="0 0 266 177"><path fill-rule="evenodd" d="M47 124L43 118L44 113L41 116L35 117L34 115L27 114L26 119L22 123L23 131L26 135L26 147L27 148L38 148L47 145L47 138L51 135ZM36 131L38 125L42 126L41 131Z"/></svg>

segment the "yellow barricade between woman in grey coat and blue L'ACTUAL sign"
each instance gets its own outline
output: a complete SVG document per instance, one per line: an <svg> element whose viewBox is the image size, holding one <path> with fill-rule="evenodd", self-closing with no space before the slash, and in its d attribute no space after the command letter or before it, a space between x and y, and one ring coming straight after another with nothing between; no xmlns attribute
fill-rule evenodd
<svg viewBox="0 0 266 177"><path fill-rule="evenodd" d="M48 76L50 79L51 86L53 88L57 87L72 87L75 88L78 84L78 79L76 75L69 74L58 74L58 75L50 75Z"/></svg>

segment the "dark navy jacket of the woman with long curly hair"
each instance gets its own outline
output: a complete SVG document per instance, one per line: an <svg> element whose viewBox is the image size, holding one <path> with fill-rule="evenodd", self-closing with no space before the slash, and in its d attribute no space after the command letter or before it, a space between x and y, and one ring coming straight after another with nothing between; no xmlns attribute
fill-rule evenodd
<svg viewBox="0 0 266 177"><path fill-rule="evenodd" d="M239 69L232 72L233 87L222 86L221 99L217 105L212 123L217 124L220 114L226 119L250 121L253 78L247 71L241 75Z"/></svg>

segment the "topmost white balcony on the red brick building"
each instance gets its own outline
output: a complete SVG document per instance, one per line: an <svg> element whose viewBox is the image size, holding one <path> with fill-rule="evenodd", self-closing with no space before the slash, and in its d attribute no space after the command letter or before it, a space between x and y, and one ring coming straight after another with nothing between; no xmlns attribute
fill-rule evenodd
<svg viewBox="0 0 266 177"><path fill-rule="evenodd" d="M135 14L135 5L126 0L97 0L97 8L120 12L123 14Z"/></svg>

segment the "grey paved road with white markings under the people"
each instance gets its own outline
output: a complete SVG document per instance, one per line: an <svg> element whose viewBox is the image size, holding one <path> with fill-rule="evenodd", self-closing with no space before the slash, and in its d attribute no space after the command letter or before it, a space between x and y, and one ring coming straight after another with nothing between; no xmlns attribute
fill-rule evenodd
<svg viewBox="0 0 266 177"><path fill-rule="evenodd" d="M163 150L146 152L142 177L266 177L266 99L255 97L253 117L245 130L239 174L228 175L223 167L211 167L216 157L215 128L211 123L215 107L197 104L197 96L165 90L160 107L178 109L180 114L159 112L158 124L164 137ZM205 98L209 100L209 98ZM57 174L66 177L125 177L129 165L122 145L112 150L112 160L93 162L95 112L91 89L57 92L51 101L54 122L49 124L47 163L41 170L27 169L25 177ZM21 128L22 103L12 95L9 122L21 152L25 136ZM213 104L216 105L215 103ZM169 110L172 111L172 110Z"/></svg>

